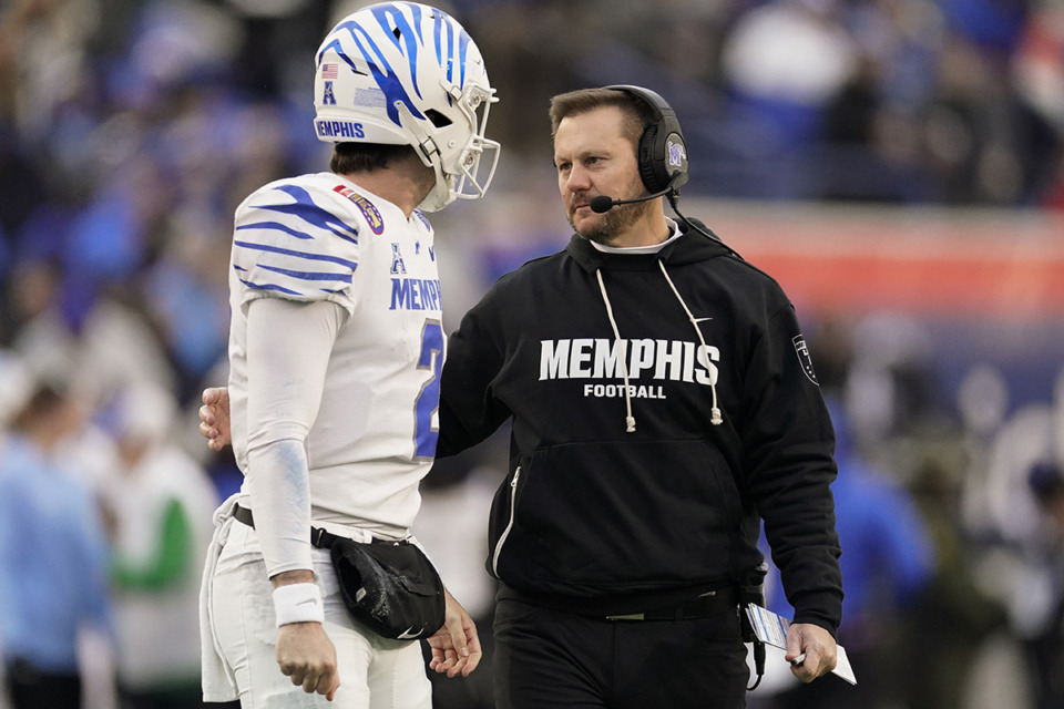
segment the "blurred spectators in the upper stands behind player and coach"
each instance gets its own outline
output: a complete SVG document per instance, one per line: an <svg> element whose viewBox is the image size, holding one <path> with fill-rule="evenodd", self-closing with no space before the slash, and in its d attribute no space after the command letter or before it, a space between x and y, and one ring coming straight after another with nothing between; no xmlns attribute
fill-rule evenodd
<svg viewBox="0 0 1064 709"><path fill-rule="evenodd" d="M1058 3L446 4L499 89L498 193L551 189L552 94L625 82L676 107L695 195L1064 206ZM134 368L192 395L224 351L233 209L325 167L309 68L357 6L8 2L0 342L58 359L75 335L101 389ZM136 347L117 351L113 329Z"/></svg>

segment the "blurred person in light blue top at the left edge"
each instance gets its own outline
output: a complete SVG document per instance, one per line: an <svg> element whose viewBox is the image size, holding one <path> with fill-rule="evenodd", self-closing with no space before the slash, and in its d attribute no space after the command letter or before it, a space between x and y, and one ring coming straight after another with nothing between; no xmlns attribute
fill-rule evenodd
<svg viewBox="0 0 1064 709"><path fill-rule="evenodd" d="M13 709L81 709L79 633L111 633L100 507L57 458L82 415L62 386L37 383L0 460L0 645Z"/></svg>

